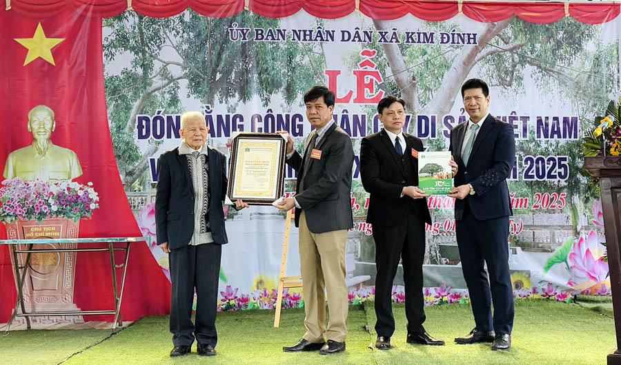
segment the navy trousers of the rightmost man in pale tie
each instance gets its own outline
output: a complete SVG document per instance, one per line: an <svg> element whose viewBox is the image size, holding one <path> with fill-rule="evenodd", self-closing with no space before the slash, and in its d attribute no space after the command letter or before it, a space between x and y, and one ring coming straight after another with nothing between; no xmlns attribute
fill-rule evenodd
<svg viewBox="0 0 621 365"><path fill-rule="evenodd" d="M462 220L455 222L455 234L477 330L511 334L515 309L507 244L509 217L477 220L466 204Z"/></svg>

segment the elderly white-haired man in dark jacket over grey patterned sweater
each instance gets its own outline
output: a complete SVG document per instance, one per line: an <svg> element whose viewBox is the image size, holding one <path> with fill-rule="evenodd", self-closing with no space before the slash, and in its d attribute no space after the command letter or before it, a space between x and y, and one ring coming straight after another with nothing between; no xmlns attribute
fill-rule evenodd
<svg viewBox="0 0 621 365"><path fill-rule="evenodd" d="M190 353L195 337L200 355L216 355L221 245L228 242L222 209L227 178L226 157L206 144L208 133L203 114L184 114L179 131L184 140L158 162L155 229L157 244L170 262L172 357ZM242 200L235 205L248 207Z"/></svg>

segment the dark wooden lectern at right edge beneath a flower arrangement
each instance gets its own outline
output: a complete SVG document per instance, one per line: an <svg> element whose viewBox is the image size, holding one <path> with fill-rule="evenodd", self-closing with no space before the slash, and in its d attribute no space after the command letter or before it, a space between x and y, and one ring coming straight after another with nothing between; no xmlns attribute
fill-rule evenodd
<svg viewBox="0 0 621 365"><path fill-rule="evenodd" d="M621 364L621 157L585 157L584 168L600 179L617 337L617 350L608 355L608 364Z"/></svg>

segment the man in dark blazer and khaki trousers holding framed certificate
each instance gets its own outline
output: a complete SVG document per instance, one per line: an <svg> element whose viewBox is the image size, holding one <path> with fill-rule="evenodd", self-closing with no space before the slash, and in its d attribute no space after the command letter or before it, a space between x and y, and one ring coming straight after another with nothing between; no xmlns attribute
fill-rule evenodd
<svg viewBox="0 0 621 365"><path fill-rule="evenodd" d="M345 284L345 244L353 227L351 213L351 138L333 121L334 93L315 86L304 95L311 132L304 156L287 143L287 164L297 171L294 198L283 200L278 209L295 209L299 227L299 262L304 293L306 333L285 352L317 351L322 355L345 350L348 290ZM330 322L326 329L326 296ZM324 343L324 336L327 342Z"/></svg>

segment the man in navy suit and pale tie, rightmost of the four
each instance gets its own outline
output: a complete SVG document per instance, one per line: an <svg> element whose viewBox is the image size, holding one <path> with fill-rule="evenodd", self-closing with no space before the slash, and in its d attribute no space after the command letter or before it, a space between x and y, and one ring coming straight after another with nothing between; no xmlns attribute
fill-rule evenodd
<svg viewBox="0 0 621 365"><path fill-rule="evenodd" d="M459 171L449 196L457 199L455 234L476 326L455 342L493 342L492 350L509 350L514 309L507 237L513 212L506 178L515 161L515 138L511 125L489 114L484 81L466 81L462 97L470 121L451 131L450 149Z"/></svg>

